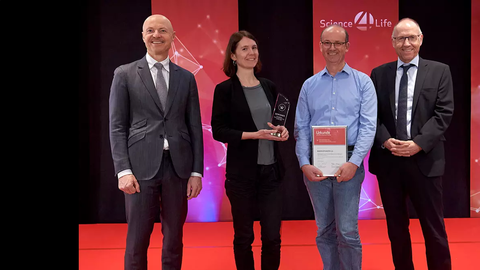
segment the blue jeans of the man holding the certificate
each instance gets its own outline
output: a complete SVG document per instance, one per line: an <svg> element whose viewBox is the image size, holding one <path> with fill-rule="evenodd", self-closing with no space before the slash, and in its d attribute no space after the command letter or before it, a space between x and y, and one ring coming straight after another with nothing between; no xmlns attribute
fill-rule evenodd
<svg viewBox="0 0 480 270"><path fill-rule="evenodd" d="M334 177L320 182L303 178L315 212L316 242L324 270L362 269L358 203L364 178L363 162L346 182L338 183Z"/></svg>

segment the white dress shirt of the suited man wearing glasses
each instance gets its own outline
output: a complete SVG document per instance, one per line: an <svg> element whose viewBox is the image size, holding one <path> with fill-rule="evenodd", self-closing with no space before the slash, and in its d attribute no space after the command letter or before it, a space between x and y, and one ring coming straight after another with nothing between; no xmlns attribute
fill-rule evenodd
<svg viewBox="0 0 480 270"><path fill-rule="evenodd" d="M404 63L400 58L397 61L397 76L395 77L395 119L397 119L398 111L398 92L400 90L400 80L403 76L403 68L401 66L413 64L408 71L408 83L407 83L407 136L411 136L411 127L412 127L412 109L413 109L413 93L415 91L415 82L417 80L417 71L418 71L418 59L417 55L410 63Z"/></svg>

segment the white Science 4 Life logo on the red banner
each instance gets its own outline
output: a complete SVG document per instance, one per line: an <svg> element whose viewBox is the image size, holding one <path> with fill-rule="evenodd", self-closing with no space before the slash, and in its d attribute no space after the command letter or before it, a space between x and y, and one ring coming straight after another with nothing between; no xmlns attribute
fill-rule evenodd
<svg viewBox="0 0 480 270"><path fill-rule="evenodd" d="M373 14L368 11L360 11L355 15L353 21L334 21L334 20L320 20L320 27L325 28L330 25L341 25L344 28L356 27L360 31L368 31L372 28L390 28L392 21L386 18L375 19Z"/></svg>

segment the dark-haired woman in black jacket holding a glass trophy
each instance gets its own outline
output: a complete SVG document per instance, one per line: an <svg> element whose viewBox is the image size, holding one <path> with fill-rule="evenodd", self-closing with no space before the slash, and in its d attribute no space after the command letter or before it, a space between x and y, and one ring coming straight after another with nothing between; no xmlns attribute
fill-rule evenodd
<svg viewBox="0 0 480 270"><path fill-rule="evenodd" d="M230 200L235 264L239 270L253 270L253 221L257 207L262 234L262 270L280 265L282 201L280 181L283 166L278 142L289 137L284 126L272 118L276 87L257 78L260 71L255 37L239 31L230 37L223 71L230 79L215 87L212 133L228 144L225 189ZM280 133L280 137L272 135Z"/></svg>

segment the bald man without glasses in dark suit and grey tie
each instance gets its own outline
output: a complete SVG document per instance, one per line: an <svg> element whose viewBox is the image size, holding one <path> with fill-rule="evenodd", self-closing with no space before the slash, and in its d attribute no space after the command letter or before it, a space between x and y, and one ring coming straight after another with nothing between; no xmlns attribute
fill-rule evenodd
<svg viewBox="0 0 480 270"><path fill-rule="evenodd" d="M143 24L147 54L115 70L110 92L110 143L125 193L125 269L147 269L155 218L162 220L162 269L181 269L187 199L202 189L203 135L195 77L170 62L170 21Z"/></svg>

